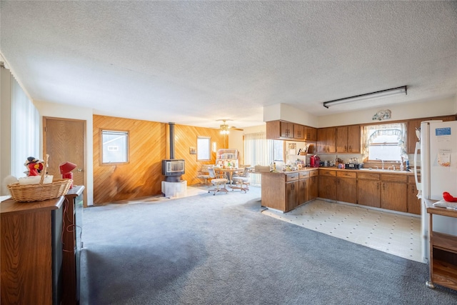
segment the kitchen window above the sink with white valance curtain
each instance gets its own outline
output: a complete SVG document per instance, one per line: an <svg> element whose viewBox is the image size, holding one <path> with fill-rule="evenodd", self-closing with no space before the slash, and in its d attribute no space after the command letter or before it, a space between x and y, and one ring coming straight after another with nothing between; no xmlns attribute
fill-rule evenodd
<svg viewBox="0 0 457 305"><path fill-rule="evenodd" d="M406 153L406 124L363 126L363 160L408 160Z"/></svg>

